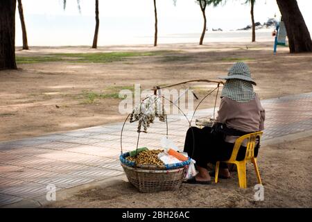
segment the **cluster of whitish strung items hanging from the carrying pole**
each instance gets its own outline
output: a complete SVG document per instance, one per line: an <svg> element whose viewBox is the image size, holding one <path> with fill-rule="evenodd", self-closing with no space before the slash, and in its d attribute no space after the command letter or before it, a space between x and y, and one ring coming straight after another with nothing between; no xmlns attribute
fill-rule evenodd
<svg viewBox="0 0 312 222"><path fill-rule="evenodd" d="M137 132L147 133L147 128L150 127L150 123L153 123L155 117L159 118L159 121L166 121L166 114L164 112L164 103L162 103L162 98L156 95L149 96L144 101L133 109L130 114L130 123L139 121L137 126ZM144 130L141 131L143 126Z"/></svg>

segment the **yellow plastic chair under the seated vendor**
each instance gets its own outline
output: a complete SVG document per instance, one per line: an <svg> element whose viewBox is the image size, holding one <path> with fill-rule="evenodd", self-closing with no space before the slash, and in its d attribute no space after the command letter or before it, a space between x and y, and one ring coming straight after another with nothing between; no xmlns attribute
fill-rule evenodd
<svg viewBox="0 0 312 222"><path fill-rule="evenodd" d="M263 132L259 131L256 133L250 133L248 135L243 135L239 137L238 139L236 139L233 152L229 160L221 161L221 162L226 162L229 164L236 164L237 173L239 175L239 187L241 188L247 188L246 161L248 160L250 160L252 164L254 164L254 171L256 171L258 183L262 184L259 169L257 166L257 158L254 157L254 147L256 146L256 139L257 137L259 137L259 142L260 142L260 137L262 134ZM236 160L237 153L239 153L239 148L241 147L241 144L245 139L248 139L247 146L246 146L245 159L241 161L237 161ZM217 161L216 162L216 175L214 179L216 183L218 182L219 166L220 166L220 161Z"/></svg>

